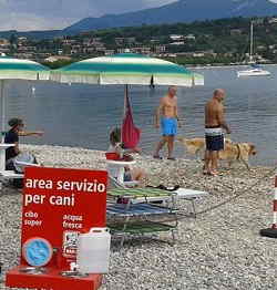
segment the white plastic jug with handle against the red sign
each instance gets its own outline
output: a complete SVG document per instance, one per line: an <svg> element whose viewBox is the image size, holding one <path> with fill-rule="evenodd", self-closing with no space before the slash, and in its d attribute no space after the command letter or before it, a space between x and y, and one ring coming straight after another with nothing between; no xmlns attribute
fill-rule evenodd
<svg viewBox="0 0 277 290"><path fill-rule="evenodd" d="M76 265L81 273L109 272L111 235L107 228L91 228L80 234L76 249Z"/></svg>

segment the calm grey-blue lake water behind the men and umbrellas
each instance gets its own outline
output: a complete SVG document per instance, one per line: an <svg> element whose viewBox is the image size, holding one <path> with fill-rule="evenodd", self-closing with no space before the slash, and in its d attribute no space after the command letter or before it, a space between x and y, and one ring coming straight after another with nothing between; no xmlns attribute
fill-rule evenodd
<svg viewBox="0 0 277 290"><path fill-rule="evenodd" d="M204 105L216 87L223 87L227 92L226 120L233 131L230 138L257 146L258 155L252 164L275 165L277 66L265 68L271 76L237 79L236 71L242 69L238 66L198 69L205 76L204 86L178 87L179 115L185 118L179 135L203 136ZM23 117L27 128L45 133L43 137L25 137L22 143L105 149L109 132L122 120L123 90L121 85L11 81L6 86L7 120ZM147 154L152 154L160 138L153 126L153 114L166 91L165 86L130 89L134 121L142 130L140 146ZM176 143L175 155L184 154L184 148Z"/></svg>

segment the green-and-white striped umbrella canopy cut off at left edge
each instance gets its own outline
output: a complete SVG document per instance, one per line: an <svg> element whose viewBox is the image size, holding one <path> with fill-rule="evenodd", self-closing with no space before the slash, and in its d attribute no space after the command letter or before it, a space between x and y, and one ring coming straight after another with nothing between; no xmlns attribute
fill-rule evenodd
<svg viewBox="0 0 277 290"><path fill-rule="evenodd" d="M0 56L0 80L49 80L49 72L34 61Z"/></svg>

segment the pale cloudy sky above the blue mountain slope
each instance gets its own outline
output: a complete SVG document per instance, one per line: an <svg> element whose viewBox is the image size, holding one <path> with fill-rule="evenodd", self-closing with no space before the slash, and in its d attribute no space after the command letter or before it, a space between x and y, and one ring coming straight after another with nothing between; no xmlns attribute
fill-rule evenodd
<svg viewBox="0 0 277 290"><path fill-rule="evenodd" d="M86 17L137 11L174 1L176 0L0 0L0 31L63 29Z"/></svg>

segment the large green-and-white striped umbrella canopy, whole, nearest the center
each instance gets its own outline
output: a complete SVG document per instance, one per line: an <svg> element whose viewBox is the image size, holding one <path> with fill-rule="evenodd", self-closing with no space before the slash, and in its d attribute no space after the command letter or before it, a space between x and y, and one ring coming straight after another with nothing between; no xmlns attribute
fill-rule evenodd
<svg viewBox="0 0 277 290"><path fill-rule="evenodd" d="M122 53L80 61L50 73L61 83L182 85L204 84L194 74L175 63L135 53Z"/></svg>

